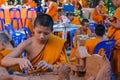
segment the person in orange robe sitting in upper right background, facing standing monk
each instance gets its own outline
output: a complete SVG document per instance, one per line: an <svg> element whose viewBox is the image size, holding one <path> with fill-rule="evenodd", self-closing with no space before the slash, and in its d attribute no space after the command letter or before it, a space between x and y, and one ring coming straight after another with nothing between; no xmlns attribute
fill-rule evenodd
<svg viewBox="0 0 120 80"><path fill-rule="evenodd" d="M92 19L97 23L101 24L104 19L108 16L106 13L106 7L102 0L99 1L98 5L96 6L93 14L91 15Z"/></svg>

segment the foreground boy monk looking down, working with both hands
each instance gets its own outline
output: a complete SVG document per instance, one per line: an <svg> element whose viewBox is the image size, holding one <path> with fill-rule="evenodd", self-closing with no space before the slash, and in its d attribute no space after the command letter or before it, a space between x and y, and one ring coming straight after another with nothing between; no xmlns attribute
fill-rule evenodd
<svg viewBox="0 0 120 80"><path fill-rule="evenodd" d="M68 63L64 47L65 40L52 34L53 20L47 14L39 14L34 21L34 37L18 45L5 56L1 65L5 67L18 66L17 71L30 72L52 71L54 65ZM26 52L26 58L19 56Z"/></svg>

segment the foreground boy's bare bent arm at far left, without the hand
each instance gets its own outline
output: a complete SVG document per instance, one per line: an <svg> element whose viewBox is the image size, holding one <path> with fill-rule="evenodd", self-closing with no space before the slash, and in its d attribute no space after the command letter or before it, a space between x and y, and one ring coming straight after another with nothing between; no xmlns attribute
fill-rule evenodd
<svg viewBox="0 0 120 80"><path fill-rule="evenodd" d="M21 43L17 48L15 48L10 54L6 55L1 60L1 65L3 66L13 66L18 64L20 58L18 58L23 52L25 48L26 43Z"/></svg>

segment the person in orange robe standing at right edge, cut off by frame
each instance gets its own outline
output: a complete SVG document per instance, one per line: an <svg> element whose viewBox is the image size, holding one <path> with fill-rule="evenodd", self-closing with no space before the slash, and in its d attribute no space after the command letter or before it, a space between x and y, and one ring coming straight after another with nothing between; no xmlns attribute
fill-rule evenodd
<svg viewBox="0 0 120 80"><path fill-rule="evenodd" d="M112 22L107 20L106 23L111 25L108 29L108 38L116 40L112 55L112 70L115 74L115 80L120 80L120 0L112 0L117 7L113 15Z"/></svg>

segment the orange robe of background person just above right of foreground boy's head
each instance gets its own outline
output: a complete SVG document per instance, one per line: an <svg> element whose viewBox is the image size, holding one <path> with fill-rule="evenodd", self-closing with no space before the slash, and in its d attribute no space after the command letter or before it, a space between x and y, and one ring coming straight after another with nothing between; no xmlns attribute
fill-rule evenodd
<svg viewBox="0 0 120 80"><path fill-rule="evenodd" d="M58 22L58 5L56 2L50 1L46 14L50 15L55 23Z"/></svg>

